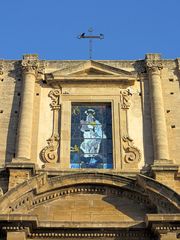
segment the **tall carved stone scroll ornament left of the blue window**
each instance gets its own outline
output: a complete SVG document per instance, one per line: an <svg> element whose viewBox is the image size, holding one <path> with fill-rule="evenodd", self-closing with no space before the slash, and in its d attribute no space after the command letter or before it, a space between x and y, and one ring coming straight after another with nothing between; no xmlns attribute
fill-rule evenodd
<svg viewBox="0 0 180 240"><path fill-rule="evenodd" d="M51 137L47 140L48 146L42 149L41 158L45 163L56 163L58 161L59 131L58 131L58 112L60 110L60 90L51 90L48 95L52 102L50 107L53 111L53 130Z"/></svg>

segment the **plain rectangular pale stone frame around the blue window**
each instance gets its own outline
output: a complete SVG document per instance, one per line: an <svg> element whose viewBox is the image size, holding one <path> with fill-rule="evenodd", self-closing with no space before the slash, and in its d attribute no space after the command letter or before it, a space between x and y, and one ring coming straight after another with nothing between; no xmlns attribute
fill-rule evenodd
<svg viewBox="0 0 180 240"><path fill-rule="evenodd" d="M74 103L110 103L112 116L112 169L70 168L71 146L71 109ZM60 169L67 171L120 171L121 140L120 140L120 98L119 96L64 96L61 95L61 126L60 126ZM115 134L116 133L116 134Z"/></svg>

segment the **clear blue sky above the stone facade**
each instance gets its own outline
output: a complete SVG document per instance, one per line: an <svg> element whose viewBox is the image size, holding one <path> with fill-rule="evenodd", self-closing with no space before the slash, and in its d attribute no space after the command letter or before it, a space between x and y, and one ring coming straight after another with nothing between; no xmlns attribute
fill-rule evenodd
<svg viewBox="0 0 180 240"><path fill-rule="evenodd" d="M143 59L145 53L180 57L180 0L0 0L0 59Z"/></svg>

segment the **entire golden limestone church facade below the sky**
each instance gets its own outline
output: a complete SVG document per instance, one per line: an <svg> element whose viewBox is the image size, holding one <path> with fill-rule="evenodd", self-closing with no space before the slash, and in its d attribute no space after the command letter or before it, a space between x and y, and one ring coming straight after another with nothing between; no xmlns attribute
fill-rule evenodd
<svg viewBox="0 0 180 240"><path fill-rule="evenodd" d="M0 239L180 238L179 85L180 59L159 54L0 60ZM110 125L94 117L102 106Z"/></svg>

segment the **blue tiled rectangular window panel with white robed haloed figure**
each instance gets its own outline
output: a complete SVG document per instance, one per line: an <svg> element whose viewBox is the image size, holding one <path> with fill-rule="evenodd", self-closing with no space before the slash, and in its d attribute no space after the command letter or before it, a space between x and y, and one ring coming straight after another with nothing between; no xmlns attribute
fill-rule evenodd
<svg viewBox="0 0 180 240"><path fill-rule="evenodd" d="M112 162L111 104L73 104L71 168L110 169Z"/></svg>

